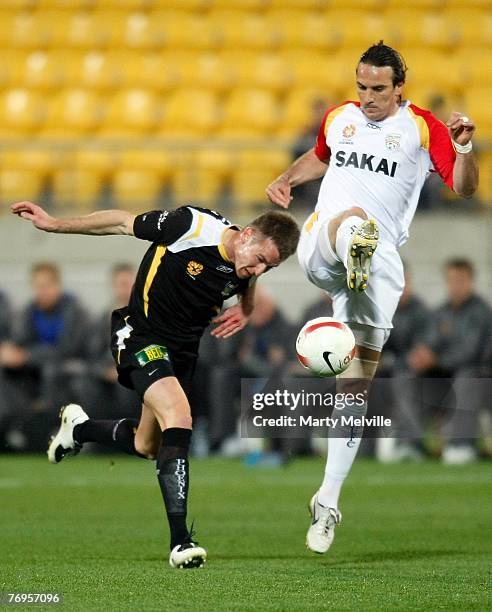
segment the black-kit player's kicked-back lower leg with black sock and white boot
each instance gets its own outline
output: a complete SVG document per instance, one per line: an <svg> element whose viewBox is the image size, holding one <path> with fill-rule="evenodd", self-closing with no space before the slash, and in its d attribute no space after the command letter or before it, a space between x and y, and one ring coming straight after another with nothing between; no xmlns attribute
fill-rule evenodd
<svg viewBox="0 0 492 612"><path fill-rule="evenodd" d="M67 455L76 455L85 442L98 442L129 455L145 458L135 450L137 419L95 420L78 404L60 411L61 424L48 447L51 463L60 463Z"/></svg>

